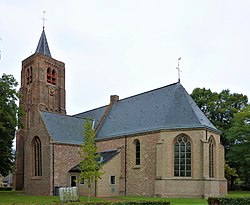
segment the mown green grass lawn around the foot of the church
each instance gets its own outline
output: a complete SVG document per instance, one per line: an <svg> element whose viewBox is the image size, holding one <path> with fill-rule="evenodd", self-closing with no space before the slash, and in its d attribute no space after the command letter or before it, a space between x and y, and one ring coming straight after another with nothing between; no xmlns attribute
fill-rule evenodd
<svg viewBox="0 0 250 205"><path fill-rule="evenodd" d="M228 197L250 197L250 191L233 191L229 192ZM108 198L106 200L109 200ZM91 201L106 201L103 198L92 197ZM113 200L165 200L170 201L171 205L207 205L206 199L187 199L187 198L153 198L153 197L113 197ZM80 197L80 201L87 201L87 197ZM17 204L57 204L58 196L32 196L17 191L0 191L0 204L17 205ZM67 203L70 204L70 203Z"/></svg>

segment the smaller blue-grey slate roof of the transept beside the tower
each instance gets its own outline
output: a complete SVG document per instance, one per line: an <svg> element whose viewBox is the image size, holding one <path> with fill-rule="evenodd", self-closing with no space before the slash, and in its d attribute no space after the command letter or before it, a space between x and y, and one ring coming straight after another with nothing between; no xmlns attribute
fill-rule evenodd
<svg viewBox="0 0 250 205"><path fill-rule="evenodd" d="M82 144L85 119L41 112L45 127L53 142Z"/></svg>

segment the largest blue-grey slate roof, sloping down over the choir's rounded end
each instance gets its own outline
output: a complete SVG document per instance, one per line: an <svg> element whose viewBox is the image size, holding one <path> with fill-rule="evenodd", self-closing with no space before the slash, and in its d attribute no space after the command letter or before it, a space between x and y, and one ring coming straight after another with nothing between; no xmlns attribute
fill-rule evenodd
<svg viewBox="0 0 250 205"><path fill-rule="evenodd" d="M183 86L174 83L114 103L97 139L180 128L219 132Z"/></svg>

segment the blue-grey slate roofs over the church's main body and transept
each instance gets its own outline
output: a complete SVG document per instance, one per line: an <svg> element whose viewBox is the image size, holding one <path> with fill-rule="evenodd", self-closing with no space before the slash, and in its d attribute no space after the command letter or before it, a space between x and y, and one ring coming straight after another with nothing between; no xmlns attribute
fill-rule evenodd
<svg viewBox="0 0 250 205"><path fill-rule="evenodd" d="M106 108L73 116L46 112L41 115L53 141L82 144L85 119L95 119L96 126ZM115 102L99 127L96 139L185 128L204 128L220 133L184 87L174 83Z"/></svg>

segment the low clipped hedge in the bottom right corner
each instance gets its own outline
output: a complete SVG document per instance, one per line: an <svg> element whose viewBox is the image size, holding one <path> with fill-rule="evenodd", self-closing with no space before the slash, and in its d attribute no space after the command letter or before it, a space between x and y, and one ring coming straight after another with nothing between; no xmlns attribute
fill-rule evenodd
<svg viewBox="0 0 250 205"><path fill-rule="evenodd" d="M249 205L250 197L209 197L207 201L209 205Z"/></svg>

